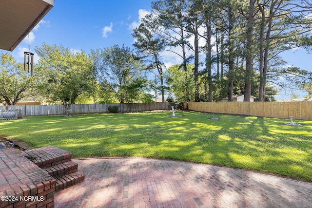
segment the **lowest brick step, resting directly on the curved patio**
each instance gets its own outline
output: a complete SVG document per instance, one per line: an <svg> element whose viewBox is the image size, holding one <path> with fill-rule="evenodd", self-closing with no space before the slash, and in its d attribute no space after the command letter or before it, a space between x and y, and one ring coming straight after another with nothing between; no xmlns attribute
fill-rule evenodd
<svg viewBox="0 0 312 208"><path fill-rule="evenodd" d="M84 174L81 172L73 172L56 178L55 191L60 191L68 187L74 186L84 180Z"/></svg>

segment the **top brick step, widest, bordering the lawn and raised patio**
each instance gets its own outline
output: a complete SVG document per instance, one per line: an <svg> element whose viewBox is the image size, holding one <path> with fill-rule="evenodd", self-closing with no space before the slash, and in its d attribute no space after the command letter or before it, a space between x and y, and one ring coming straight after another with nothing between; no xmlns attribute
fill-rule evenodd
<svg viewBox="0 0 312 208"><path fill-rule="evenodd" d="M46 168L68 162L73 154L54 146L22 151L21 154L40 168Z"/></svg>

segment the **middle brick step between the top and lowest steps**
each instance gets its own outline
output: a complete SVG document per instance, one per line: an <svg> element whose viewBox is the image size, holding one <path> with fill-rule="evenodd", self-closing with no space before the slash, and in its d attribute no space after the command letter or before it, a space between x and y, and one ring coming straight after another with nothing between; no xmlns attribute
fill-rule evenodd
<svg viewBox="0 0 312 208"><path fill-rule="evenodd" d="M60 176L78 171L78 164L73 161L69 161L54 165L52 167L43 168L43 170L47 171L52 177L58 178Z"/></svg>

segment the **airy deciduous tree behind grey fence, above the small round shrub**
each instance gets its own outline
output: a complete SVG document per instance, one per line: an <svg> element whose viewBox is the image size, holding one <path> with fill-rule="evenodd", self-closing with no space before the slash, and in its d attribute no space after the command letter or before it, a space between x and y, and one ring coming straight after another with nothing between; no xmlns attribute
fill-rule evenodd
<svg viewBox="0 0 312 208"><path fill-rule="evenodd" d="M97 70L99 84L114 93L120 103L139 100L138 91L143 91L146 77L142 61L136 60L133 51L124 45L91 51Z"/></svg>

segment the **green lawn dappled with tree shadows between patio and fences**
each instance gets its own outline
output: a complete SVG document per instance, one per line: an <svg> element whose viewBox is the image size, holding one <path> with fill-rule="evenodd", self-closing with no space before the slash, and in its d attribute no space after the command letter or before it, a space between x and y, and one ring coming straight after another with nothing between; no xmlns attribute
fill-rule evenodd
<svg viewBox="0 0 312 208"><path fill-rule="evenodd" d="M25 117L0 134L74 157L140 156L280 174L312 182L312 121L176 112Z"/></svg>

